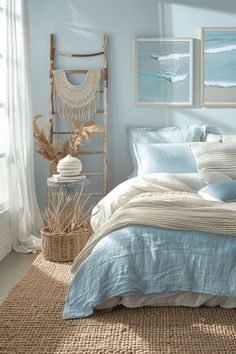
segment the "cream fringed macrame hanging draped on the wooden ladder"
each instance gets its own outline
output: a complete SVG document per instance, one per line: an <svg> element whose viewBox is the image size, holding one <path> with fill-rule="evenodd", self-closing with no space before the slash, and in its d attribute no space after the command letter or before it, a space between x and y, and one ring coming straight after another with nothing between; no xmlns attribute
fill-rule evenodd
<svg viewBox="0 0 236 354"><path fill-rule="evenodd" d="M53 110L65 121L83 123L96 113L101 70L88 70L85 80L70 83L64 70L53 70Z"/></svg>

